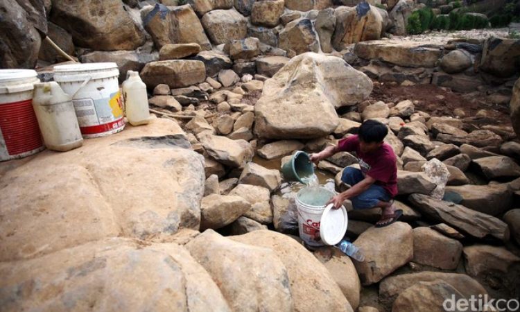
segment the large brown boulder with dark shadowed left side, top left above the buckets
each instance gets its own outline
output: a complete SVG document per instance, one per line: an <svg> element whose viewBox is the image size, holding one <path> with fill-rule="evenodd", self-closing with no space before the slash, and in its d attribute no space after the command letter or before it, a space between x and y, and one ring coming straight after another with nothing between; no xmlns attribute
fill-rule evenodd
<svg viewBox="0 0 520 312"><path fill-rule="evenodd" d="M144 33L121 1L53 1L51 21L71 33L74 43L101 51L135 50Z"/></svg>

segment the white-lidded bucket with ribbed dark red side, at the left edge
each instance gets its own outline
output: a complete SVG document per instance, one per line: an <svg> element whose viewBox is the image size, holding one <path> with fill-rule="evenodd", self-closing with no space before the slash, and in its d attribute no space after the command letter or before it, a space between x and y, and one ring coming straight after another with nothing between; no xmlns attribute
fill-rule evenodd
<svg viewBox="0 0 520 312"><path fill-rule="evenodd" d="M0 161L33 155L45 148L33 109L36 71L0 70Z"/></svg>

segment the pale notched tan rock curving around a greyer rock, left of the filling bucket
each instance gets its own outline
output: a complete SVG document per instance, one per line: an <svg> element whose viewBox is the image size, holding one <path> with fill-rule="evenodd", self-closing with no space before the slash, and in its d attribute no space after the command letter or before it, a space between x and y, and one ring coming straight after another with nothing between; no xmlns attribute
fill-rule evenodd
<svg viewBox="0 0 520 312"><path fill-rule="evenodd" d="M250 202L252 207L243 216L252 218L262 224L272 223L272 209L269 204L270 192L265 187L239 184L229 192L229 195L241 196Z"/></svg>

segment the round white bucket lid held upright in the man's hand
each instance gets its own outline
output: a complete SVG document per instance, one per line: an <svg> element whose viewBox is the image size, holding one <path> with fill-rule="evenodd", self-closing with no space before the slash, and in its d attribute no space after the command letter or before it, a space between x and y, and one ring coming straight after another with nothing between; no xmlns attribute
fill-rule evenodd
<svg viewBox="0 0 520 312"><path fill-rule="evenodd" d="M333 209L333 204L329 204L323 211L320 220L320 236L327 245L336 245L347 232L349 218L347 209L341 206L340 209Z"/></svg>

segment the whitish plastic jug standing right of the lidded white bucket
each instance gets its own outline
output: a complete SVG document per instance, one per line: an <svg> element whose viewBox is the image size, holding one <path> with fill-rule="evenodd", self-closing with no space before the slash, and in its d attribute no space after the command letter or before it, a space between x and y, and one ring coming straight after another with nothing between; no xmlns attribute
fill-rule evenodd
<svg viewBox="0 0 520 312"><path fill-rule="evenodd" d="M123 83L126 118L132 125L146 125L150 121L146 85L137 71L128 71L127 76Z"/></svg>

